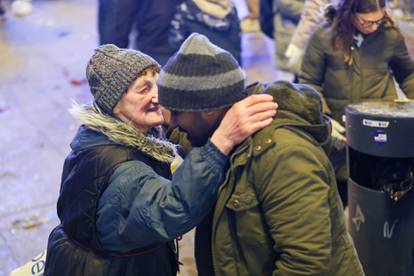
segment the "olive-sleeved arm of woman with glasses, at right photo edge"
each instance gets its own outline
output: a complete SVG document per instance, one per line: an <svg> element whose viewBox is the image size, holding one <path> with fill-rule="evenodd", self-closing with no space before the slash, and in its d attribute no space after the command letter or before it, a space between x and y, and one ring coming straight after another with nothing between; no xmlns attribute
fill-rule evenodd
<svg viewBox="0 0 414 276"><path fill-rule="evenodd" d="M394 54L390 60L390 67L405 95L414 99L414 62L408 53L403 35L397 30L397 39Z"/></svg>

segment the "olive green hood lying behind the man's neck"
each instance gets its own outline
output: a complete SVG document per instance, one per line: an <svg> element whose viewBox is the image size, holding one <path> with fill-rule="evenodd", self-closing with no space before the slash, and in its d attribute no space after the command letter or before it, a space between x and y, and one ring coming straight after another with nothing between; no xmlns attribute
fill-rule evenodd
<svg viewBox="0 0 414 276"><path fill-rule="evenodd" d="M273 126L301 130L329 151L331 124L322 113L322 98L313 88L303 84L276 81L263 85L255 83L248 87L249 94L266 93L273 96L278 112Z"/></svg>

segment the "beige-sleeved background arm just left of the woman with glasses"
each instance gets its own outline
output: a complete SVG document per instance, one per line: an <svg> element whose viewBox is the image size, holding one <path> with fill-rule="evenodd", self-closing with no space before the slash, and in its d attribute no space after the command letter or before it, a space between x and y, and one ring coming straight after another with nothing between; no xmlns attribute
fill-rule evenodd
<svg viewBox="0 0 414 276"><path fill-rule="evenodd" d="M310 36L324 19L324 7L329 0L306 0L300 22L292 36L285 55L289 58L287 66L294 72L300 71L303 54Z"/></svg>

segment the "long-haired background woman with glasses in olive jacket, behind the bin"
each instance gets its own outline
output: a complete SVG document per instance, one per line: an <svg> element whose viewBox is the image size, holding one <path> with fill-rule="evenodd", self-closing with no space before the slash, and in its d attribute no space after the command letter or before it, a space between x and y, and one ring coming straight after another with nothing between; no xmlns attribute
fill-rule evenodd
<svg viewBox="0 0 414 276"><path fill-rule="evenodd" d="M322 93L324 112L334 119L332 135L339 140L345 140L345 107L397 98L393 78L408 98L414 98L414 63L385 4L342 0L337 8L328 8L328 22L312 35L305 52L300 81ZM335 155L338 180L346 180L345 154Z"/></svg>

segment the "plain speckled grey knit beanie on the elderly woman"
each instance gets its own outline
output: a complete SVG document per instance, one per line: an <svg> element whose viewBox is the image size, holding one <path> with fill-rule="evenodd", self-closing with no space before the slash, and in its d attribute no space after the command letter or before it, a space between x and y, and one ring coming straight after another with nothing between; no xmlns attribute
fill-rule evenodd
<svg viewBox="0 0 414 276"><path fill-rule="evenodd" d="M147 68L160 65L150 56L131 49L120 49L112 44L95 49L86 67L91 93L95 103L108 115L122 94Z"/></svg>

